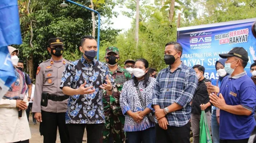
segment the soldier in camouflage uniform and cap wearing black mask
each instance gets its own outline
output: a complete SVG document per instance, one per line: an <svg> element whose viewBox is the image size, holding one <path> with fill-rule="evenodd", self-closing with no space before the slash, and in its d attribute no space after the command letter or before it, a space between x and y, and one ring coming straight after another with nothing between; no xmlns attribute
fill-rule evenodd
<svg viewBox="0 0 256 143"><path fill-rule="evenodd" d="M112 95L108 95L106 91L104 92L103 106L106 123L103 129L102 141L103 143L124 143L126 138L126 133L124 132L125 117L122 114L119 98L123 84L131 79L131 75L117 64L120 59L118 48L108 47L105 59L110 69L110 74L115 79L116 86ZM113 138L110 138L110 134Z"/></svg>

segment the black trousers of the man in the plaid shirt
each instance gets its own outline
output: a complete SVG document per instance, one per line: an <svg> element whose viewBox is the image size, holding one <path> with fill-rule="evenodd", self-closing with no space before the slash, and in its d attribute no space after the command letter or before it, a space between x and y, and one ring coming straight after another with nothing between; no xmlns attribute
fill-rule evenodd
<svg viewBox="0 0 256 143"><path fill-rule="evenodd" d="M190 123L182 127L168 126L167 130L155 124L156 143L190 143Z"/></svg>

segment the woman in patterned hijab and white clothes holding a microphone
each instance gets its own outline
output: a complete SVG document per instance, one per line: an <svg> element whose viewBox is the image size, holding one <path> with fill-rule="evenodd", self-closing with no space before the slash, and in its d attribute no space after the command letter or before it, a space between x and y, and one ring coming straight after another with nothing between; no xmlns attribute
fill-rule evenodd
<svg viewBox="0 0 256 143"><path fill-rule="evenodd" d="M0 99L0 143L29 143L31 133L25 111L28 107L28 87L22 71L16 68L19 51L11 46L8 49L17 80ZM24 100L19 100L21 94ZM19 110L22 110L22 117L18 115Z"/></svg>

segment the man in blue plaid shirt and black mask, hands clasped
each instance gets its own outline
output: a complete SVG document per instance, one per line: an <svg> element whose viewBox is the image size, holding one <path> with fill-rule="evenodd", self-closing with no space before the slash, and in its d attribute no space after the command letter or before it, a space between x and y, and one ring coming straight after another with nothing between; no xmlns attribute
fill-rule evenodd
<svg viewBox="0 0 256 143"><path fill-rule="evenodd" d="M152 96L157 143L189 143L190 115L197 88L195 70L181 61L182 47L177 42L166 44L164 61L168 68L161 70Z"/></svg>

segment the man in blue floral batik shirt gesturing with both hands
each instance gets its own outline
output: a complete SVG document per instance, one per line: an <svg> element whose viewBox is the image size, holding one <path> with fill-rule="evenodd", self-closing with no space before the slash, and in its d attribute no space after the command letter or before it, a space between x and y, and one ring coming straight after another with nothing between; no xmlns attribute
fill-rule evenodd
<svg viewBox="0 0 256 143"><path fill-rule="evenodd" d="M81 143L84 129L87 130L87 143L99 143L104 127L103 91L111 95L115 88L108 65L95 58L97 41L92 36L81 39L81 59L66 65L60 88L70 95L66 124L70 143Z"/></svg>

